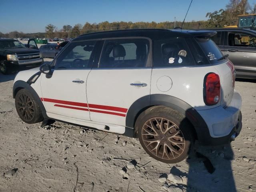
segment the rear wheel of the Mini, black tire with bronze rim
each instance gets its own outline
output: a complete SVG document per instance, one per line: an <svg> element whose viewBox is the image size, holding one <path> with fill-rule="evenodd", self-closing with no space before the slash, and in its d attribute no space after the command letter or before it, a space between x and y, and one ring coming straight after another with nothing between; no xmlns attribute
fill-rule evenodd
<svg viewBox="0 0 256 192"><path fill-rule="evenodd" d="M165 106L142 112L135 130L140 144L151 157L170 164L186 159L195 140L192 125L185 116Z"/></svg>

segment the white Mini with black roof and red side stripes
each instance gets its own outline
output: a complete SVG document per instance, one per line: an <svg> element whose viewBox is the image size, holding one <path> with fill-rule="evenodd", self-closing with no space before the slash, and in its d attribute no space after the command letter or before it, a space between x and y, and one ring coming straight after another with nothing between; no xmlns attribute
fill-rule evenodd
<svg viewBox="0 0 256 192"><path fill-rule="evenodd" d="M242 128L235 70L216 32L120 30L79 36L51 64L19 72L13 97L29 124L52 120L137 137L156 160L184 160Z"/></svg>

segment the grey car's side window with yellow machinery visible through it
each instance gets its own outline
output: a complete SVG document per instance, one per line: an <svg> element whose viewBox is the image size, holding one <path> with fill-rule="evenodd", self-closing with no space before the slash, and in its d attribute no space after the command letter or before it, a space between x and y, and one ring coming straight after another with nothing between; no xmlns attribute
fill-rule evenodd
<svg viewBox="0 0 256 192"><path fill-rule="evenodd" d="M243 33L230 33L228 35L229 46L239 47L254 47L256 44L256 37Z"/></svg>

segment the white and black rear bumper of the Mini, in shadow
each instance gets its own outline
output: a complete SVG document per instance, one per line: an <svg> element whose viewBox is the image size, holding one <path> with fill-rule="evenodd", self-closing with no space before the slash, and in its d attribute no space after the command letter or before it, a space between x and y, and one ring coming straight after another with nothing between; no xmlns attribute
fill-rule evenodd
<svg viewBox="0 0 256 192"><path fill-rule="evenodd" d="M199 133L198 138L204 138L199 140L200 144L222 145L234 140L242 129L241 106L241 96L234 92L232 101L226 108L219 106L209 110L198 110L208 127L207 131Z"/></svg>

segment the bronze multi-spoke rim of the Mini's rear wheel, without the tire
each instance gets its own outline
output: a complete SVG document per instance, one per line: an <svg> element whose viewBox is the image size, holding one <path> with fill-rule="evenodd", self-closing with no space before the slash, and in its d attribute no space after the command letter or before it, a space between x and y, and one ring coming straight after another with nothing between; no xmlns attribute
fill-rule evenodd
<svg viewBox="0 0 256 192"><path fill-rule="evenodd" d="M185 138L180 128L166 118L151 118L142 127L146 148L158 158L174 160L185 149Z"/></svg>

